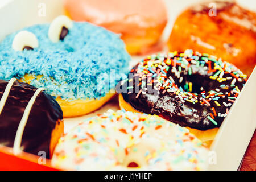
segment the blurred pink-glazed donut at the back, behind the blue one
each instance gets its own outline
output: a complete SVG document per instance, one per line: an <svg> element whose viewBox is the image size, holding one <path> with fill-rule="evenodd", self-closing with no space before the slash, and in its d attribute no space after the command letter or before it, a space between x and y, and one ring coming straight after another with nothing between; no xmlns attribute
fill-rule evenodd
<svg viewBox="0 0 256 182"><path fill-rule="evenodd" d="M167 23L162 0L64 1L65 14L120 33L129 53L143 53L158 42Z"/></svg>

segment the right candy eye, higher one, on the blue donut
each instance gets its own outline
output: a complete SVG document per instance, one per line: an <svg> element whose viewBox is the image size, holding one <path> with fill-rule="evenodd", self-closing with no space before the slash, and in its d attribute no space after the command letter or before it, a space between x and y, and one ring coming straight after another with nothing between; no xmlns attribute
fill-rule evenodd
<svg viewBox="0 0 256 182"><path fill-rule="evenodd" d="M72 28L72 25L72 20L67 16L58 16L52 21L49 27L49 39L55 43L59 42L59 40L64 40L65 36L68 35L69 29Z"/></svg>

